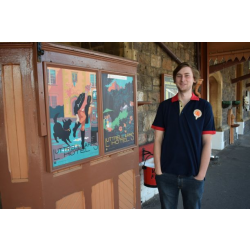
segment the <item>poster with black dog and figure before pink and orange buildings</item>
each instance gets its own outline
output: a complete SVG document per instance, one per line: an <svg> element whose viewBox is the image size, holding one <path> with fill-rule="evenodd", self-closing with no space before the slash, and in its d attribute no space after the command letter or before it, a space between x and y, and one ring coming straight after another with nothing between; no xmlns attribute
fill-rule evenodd
<svg viewBox="0 0 250 250"><path fill-rule="evenodd" d="M53 168L99 155L96 73L47 67Z"/></svg>

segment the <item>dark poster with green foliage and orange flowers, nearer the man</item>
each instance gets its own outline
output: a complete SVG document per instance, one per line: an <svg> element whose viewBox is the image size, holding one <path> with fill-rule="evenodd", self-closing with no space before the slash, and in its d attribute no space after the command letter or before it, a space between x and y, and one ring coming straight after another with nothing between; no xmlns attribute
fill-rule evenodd
<svg viewBox="0 0 250 250"><path fill-rule="evenodd" d="M105 153L135 144L134 78L102 74Z"/></svg>

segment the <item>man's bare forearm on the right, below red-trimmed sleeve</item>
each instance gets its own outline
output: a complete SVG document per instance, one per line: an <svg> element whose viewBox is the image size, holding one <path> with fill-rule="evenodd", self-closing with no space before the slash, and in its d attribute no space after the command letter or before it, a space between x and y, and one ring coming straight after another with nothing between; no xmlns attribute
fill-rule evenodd
<svg viewBox="0 0 250 250"><path fill-rule="evenodd" d="M212 140L212 135L210 134L202 135L203 149L201 153L200 170L198 175L195 177L195 179L197 180L204 180L206 176L207 168L211 157L211 140Z"/></svg>

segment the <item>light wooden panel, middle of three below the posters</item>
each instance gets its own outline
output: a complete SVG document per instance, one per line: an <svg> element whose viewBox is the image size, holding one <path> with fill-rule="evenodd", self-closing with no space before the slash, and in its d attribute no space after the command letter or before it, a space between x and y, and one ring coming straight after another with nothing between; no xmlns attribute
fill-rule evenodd
<svg viewBox="0 0 250 250"><path fill-rule="evenodd" d="M92 187L92 208L114 208L114 190L111 179L100 182Z"/></svg>

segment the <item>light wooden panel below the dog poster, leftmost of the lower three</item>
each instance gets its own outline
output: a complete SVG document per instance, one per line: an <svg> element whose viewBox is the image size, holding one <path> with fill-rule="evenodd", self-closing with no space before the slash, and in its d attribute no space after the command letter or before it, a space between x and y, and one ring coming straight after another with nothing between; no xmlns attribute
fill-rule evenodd
<svg viewBox="0 0 250 250"><path fill-rule="evenodd" d="M85 197L82 191L70 194L56 202L57 209L84 209Z"/></svg>

